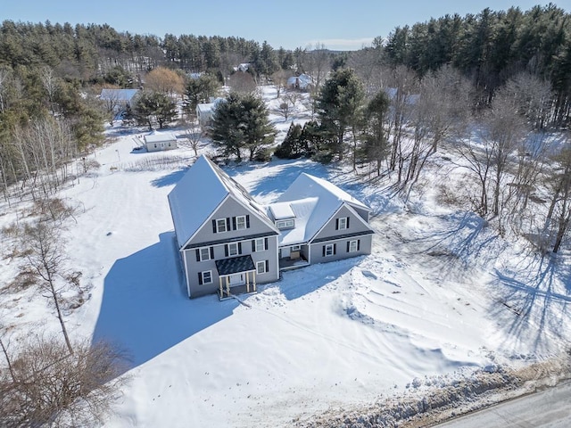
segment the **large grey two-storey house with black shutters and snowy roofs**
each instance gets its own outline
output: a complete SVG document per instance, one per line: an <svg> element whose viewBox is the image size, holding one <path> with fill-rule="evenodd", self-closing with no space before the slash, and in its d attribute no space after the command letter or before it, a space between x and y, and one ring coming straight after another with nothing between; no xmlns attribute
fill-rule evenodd
<svg viewBox="0 0 571 428"><path fill-rule="evenodd" d="M263 207L201 156L169 203L189 297L256 292L280 270L371 252L368 207L305 173Z"/></svg>

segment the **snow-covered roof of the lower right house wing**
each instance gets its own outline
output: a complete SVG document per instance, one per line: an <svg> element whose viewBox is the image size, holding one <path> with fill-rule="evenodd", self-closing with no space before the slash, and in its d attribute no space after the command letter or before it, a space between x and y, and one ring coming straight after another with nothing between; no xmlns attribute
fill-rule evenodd
<svg viewBox="0 0 571 428"><path fill-rule="evenodd" d="M285 193L277 198L277 202L269 205L272 214L285 213L285 206L294 213L294 229L281 231L279 245L309 242L343 203L349 207L370 210L363 202L327 180L302 173Z"/></svg>

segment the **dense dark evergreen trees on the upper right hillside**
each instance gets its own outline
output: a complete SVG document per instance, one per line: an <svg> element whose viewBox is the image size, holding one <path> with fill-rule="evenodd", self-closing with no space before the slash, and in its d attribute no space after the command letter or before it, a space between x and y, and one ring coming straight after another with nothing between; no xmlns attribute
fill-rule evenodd
<svg viewBox="0 0 571 428"><path fill-rule="evenodd" d="M555 4L478 14L445 15L397 27L374 48L393 65L406 65L423 76L450 64L470 79L477 103L492 101L494 91L525 70L550 81L553 108L548 120L569 119L571 90L571 19Z"/></svg>

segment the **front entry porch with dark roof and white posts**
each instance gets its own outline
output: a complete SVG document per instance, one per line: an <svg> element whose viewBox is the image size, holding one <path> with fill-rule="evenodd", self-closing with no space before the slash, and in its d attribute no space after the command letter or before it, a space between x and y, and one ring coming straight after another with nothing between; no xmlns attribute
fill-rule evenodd
<svg viewBox="0 0 571 428"><path fill-rule="evenodd" d="M219 300L256 292L256 267L251 256L216 260L216 269L219 275Z"/></svg>

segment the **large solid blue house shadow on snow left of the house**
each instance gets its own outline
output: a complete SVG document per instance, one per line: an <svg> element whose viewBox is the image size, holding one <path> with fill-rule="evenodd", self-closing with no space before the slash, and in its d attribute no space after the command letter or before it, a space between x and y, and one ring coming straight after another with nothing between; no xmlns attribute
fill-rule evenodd
<svg viewBox="0 0 571 428"><path fill-rule="evenodd" d="M180 269L172 232L118 259L105 276L92 342L117 343L128 352L130 369L232 315L236 300L189 300Z"/></svg>

